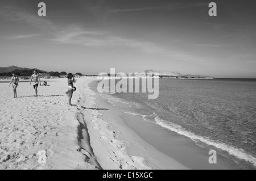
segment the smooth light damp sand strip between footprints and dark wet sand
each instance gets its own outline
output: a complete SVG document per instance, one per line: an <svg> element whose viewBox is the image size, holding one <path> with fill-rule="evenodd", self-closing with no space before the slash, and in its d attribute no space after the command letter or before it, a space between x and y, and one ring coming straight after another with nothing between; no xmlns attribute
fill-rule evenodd
<svg viewBox="0 0 256 181"><path fill-rule="evenodd" d="M140 137L133 129L131 129L125 122L126 120L122 118L123 113L115 110L111 107L104 98L98 95L96 99L100 107L106 107L109 111L104 112L105 120L109 121L110 129L116 129L117 140L121 140L125 145L125 151L129 157L139 157L144 160L144 164L147 169L153 170L187 170L188 167L177 162L175 159L168 157L163 154L154 146L148 144Z"/></svg>

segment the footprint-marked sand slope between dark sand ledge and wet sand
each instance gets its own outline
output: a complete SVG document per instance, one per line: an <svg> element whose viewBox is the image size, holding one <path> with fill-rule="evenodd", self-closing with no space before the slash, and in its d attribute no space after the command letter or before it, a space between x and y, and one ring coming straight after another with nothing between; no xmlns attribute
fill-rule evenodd
<svg viewBox="0 0 256 181"><path fill-rule="evenodd" d="M91 87L85 89L88 94ZM119 111L106 104L97 92L90 91L93 96L86 100L81 96L79 104L89 107L83 110L83 120L90 136L90 145L102 169L188 169L145 142L127 127Z"/></svg>

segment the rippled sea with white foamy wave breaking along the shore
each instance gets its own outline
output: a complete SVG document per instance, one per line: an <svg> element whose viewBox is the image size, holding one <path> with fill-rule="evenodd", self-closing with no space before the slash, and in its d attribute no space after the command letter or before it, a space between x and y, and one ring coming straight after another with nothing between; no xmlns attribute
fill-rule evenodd
<svg viewBox="0 0 256 181"><path fill-rule="evenodd" d="M102 96L123 112L256 168L255 90L256 79L159 79L158 99L145 93Z"/></svg>

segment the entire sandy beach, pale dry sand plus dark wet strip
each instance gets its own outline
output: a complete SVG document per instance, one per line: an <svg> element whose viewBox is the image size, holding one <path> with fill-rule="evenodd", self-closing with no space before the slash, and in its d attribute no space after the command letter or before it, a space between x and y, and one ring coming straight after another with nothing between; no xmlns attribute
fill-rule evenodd
<svg viewBox="0 0 256 181"><path fill-rule="evenodd" d="M0 83L0 170L242 169L219 153L209 164L207 146L120 111L93 86L97 78L76 78L73 106L66 78L46 81L38 98L29 82L15 99Z"/></svg>

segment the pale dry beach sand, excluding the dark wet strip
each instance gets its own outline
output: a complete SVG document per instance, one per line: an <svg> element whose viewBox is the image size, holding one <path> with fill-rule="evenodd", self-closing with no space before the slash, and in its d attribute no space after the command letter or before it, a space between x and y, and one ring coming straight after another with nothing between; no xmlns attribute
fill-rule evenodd
<svg viewBox="0 0 256 181"><path fill-rule="evenodd" d="M9 83L0 83L0 169L188 169L100 103L88 87L93 80L77 78L73 106L65 95L67 79L47 80L38 98L27 82L19 83L15 99Z"/></svg>

